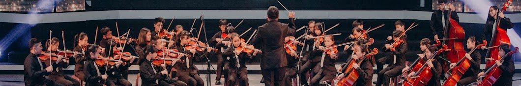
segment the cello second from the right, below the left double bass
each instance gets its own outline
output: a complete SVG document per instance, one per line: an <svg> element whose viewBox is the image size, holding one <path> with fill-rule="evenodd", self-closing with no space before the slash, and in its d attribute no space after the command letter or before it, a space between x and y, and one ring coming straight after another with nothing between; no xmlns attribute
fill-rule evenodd
<svg viewBox="0 0 521 86"><path fill-rule="evenodd" d="M469 54L472 54L474 51L476 51L477 48L481 48L481 46L487 45L487 41L483 41L483 44L479 44L476 47L474 47ZM449 73L449 77L445 82L443 82L443 86L453 86L456 85L456 83L461 79L461 77L467 72L468 68L470 67L470 59L464 57L460 59L456 63L456 66L454 68L451 68L449 70L452 70L452 73ZM449 72L449 71L447 71Z"/></svg>

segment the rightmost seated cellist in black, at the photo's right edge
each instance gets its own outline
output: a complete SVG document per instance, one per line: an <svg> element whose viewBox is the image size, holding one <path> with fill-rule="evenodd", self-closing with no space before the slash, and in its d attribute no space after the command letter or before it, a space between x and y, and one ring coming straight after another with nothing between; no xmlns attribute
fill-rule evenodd
<svg viewBox="0 0 521 86"><path fill-rule="evenodd" d="M517 48L517 47L516 47ZM512 77L514 76L514 60L512 58L512 55L510 54L510 45L508 44L501 44L499 45L499 55L502 56L502 59L490 59L495 60L496 66L491 66L488 68L485 68L486 71L481 71L478 73L478 77L485 77L483 78L483 81L477 81L478 85L481 84L492 84L492 85L512 85ZM495 82L486 81L488 79L487 77L492 78L492 73L499 73L499 72L488 72L491 68L498 68L502 72L498 75L499 77L495 77L497 79Z"/></svg>

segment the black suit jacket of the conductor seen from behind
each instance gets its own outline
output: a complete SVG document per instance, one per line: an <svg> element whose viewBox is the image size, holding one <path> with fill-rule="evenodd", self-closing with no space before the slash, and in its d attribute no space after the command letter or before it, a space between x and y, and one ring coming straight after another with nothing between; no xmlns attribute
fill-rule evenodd
<svg viewBox="0 0 521 86"><path fill-rule="evenodd" d="M258 27L251 44L262 48L261 69L281 68L288 65L284 38L295 35L295 19L290 18L290 21L289 24L269 21Z"/></svg>

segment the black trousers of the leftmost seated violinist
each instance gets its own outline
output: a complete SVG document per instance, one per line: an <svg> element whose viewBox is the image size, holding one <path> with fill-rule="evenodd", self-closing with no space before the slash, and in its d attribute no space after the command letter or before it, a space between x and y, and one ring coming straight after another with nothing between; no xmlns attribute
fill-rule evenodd
<svg viewBox="0 0 521 86"><path fill-rule="evenodd" d="M49 80L66 86L80 85L80 82L66 75L49 75Z"/></svg>

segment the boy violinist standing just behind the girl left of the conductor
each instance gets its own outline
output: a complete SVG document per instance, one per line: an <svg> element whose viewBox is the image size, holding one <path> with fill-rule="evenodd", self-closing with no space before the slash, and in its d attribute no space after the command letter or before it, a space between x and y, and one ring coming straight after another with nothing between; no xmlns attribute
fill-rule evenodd
<svg viewBox="0 0 521 86"><path fill-rule="evenodd" d="M227 44L230 44L230 32L233 32L233 31L229 31L227 30L228 26L228 21L226 19L220 19L219 20L219 32L215 33L214 36L212 36L212 39L210 39L209 41L209 45L212 45L214 46L215 48L217 48L217 52L214 52L212 54L212 56L216 56L217 58L217 70L216 70L216 74L217 76L215 77L215 84L221 84L221 75L222 75L222 68L224 67L225 65L225 59L223 56L222 56L222 52L224 52Z"/></svg>

